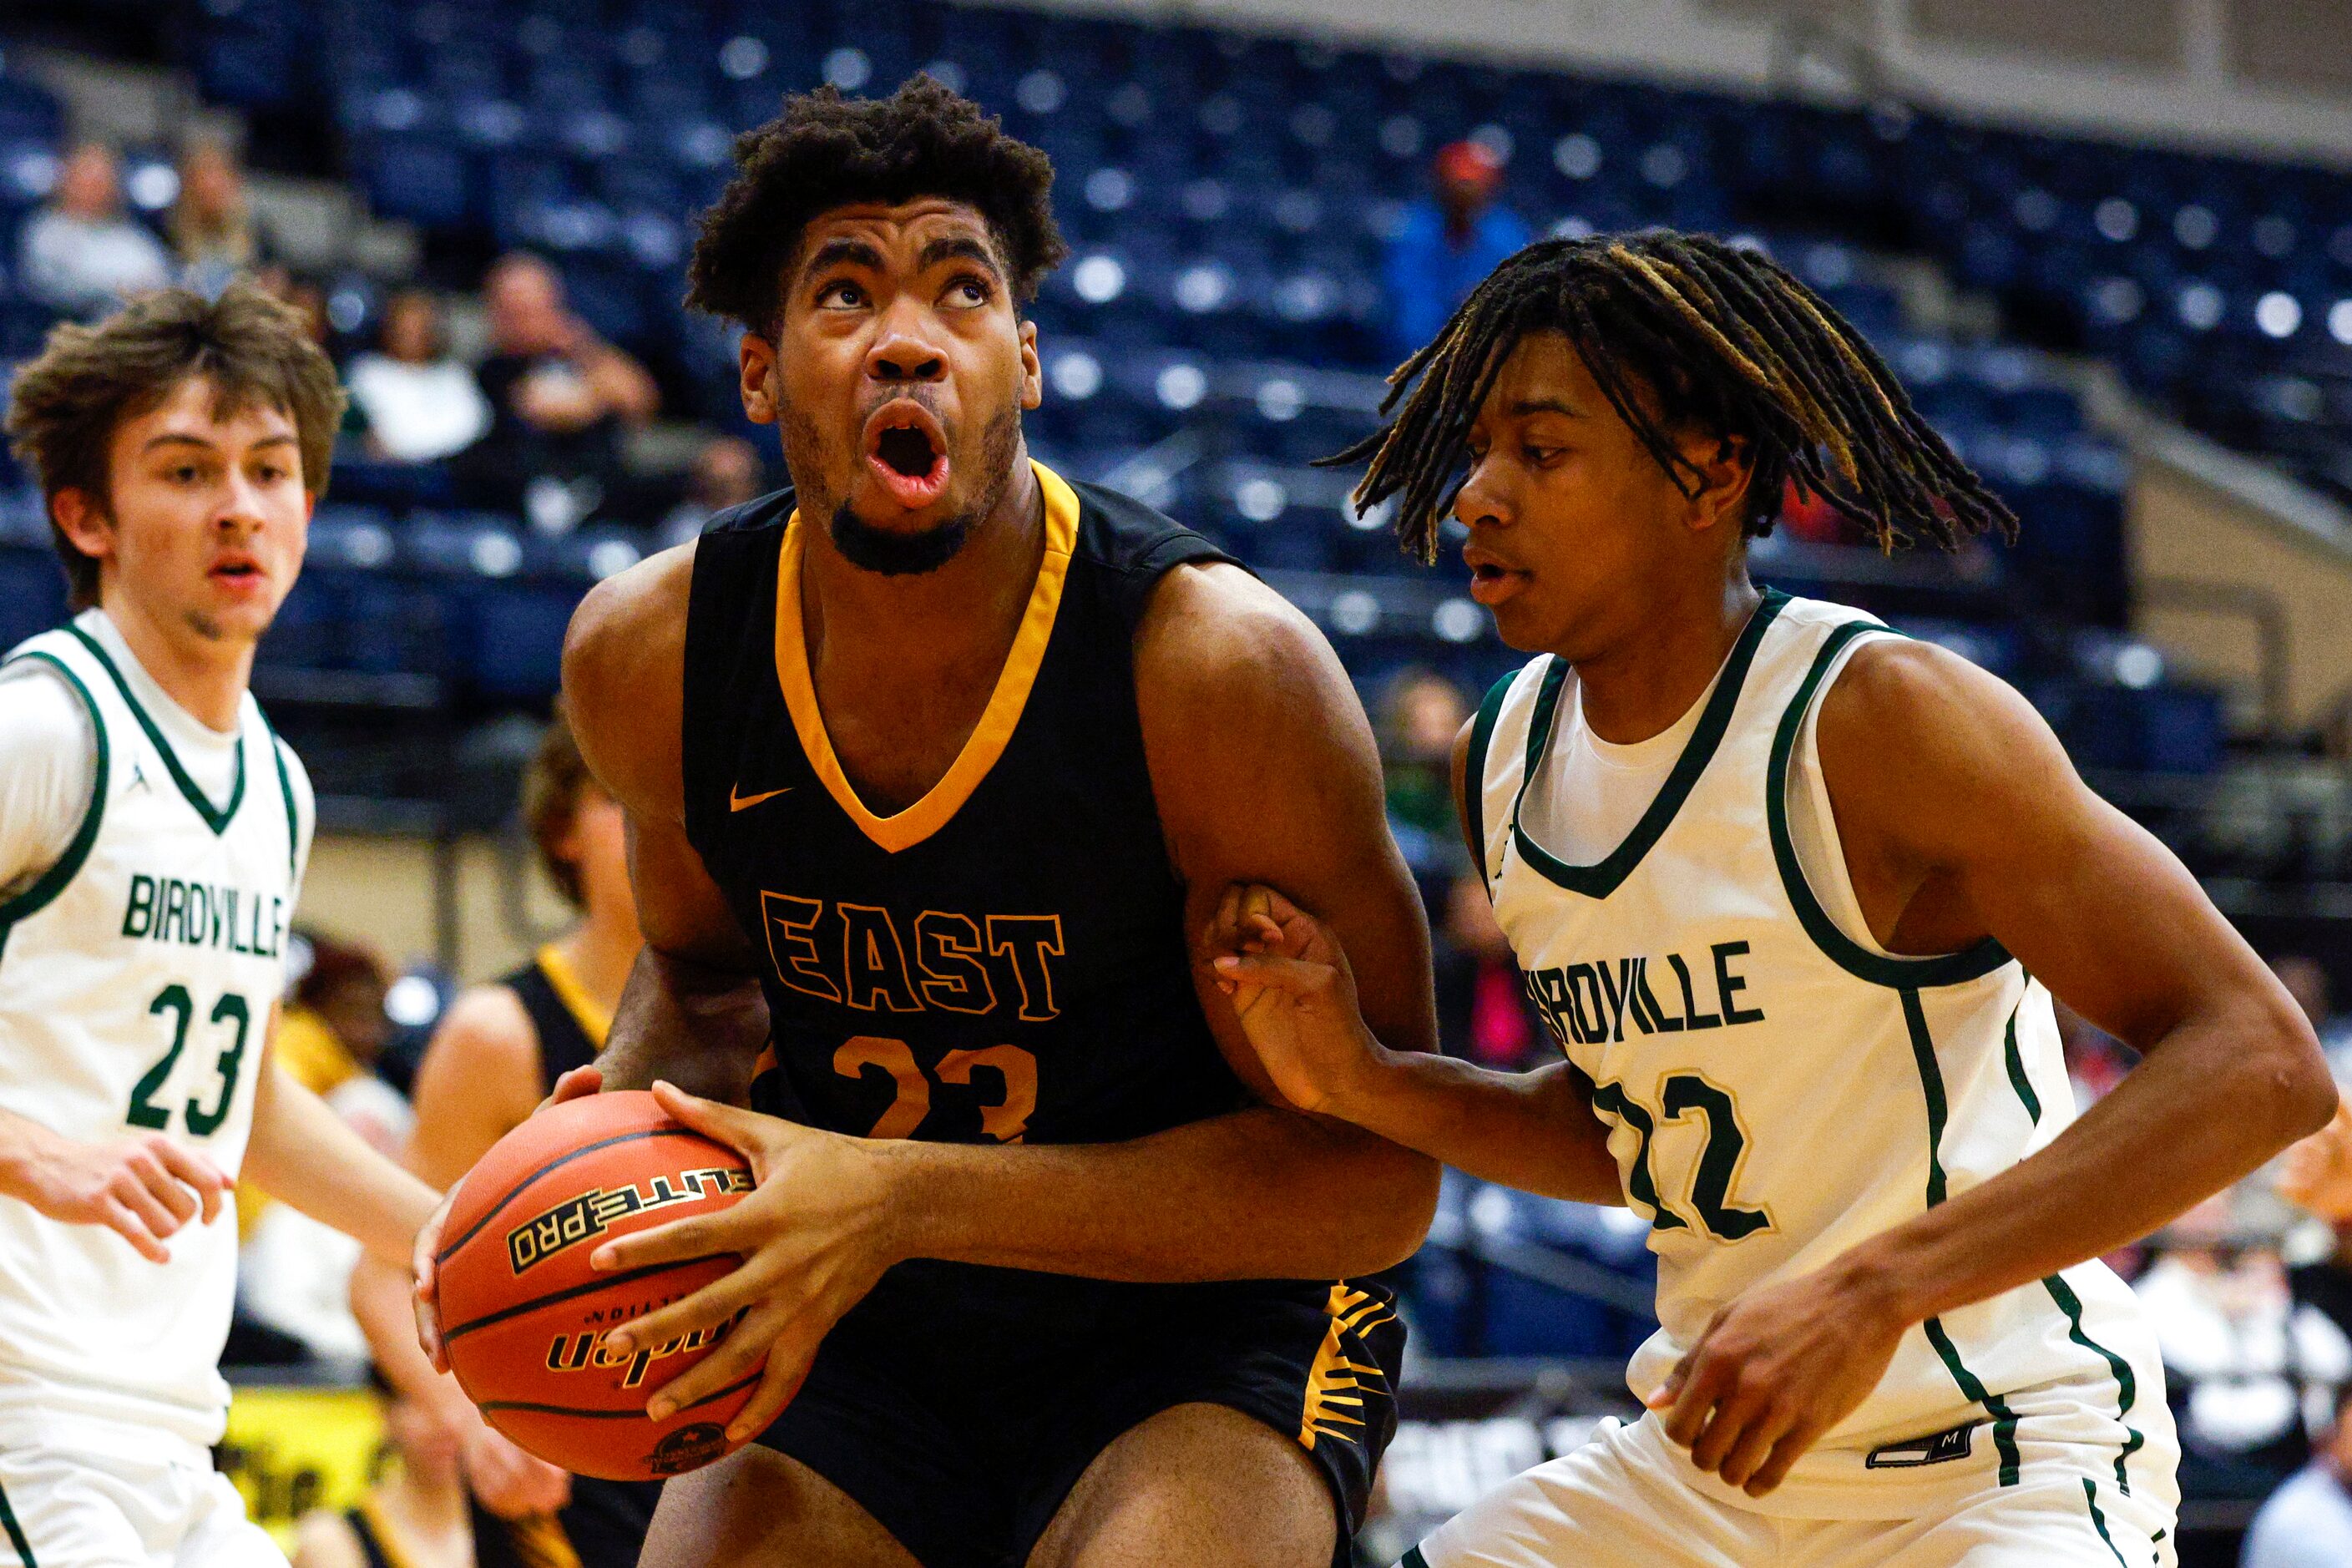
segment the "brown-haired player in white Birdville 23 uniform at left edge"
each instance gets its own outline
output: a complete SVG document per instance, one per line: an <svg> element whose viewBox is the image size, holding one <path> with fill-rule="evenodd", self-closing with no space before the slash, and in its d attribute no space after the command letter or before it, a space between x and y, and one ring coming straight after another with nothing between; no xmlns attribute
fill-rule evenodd
<svg viewBox="0 0 2352 1568"><path fill-rule="evenodd" d="M9 383L75 616L0 661L0 1552L285 1568L207 1448L240 1182L397 1265L433 1192L278 1060L318 809L252 696L343 395L252 284Z"/></svg>

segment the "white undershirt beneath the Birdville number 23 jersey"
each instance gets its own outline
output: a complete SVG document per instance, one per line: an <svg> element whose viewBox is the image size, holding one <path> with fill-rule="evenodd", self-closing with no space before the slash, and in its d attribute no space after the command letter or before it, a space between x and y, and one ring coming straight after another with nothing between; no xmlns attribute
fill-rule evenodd
<svg viewBox="0 0 2352 1568"><path fill-rule="evenodd" d="M73 618L106 649L122 682L155 719L195 788L226 806L238 776L238 731L219 731L172 701L101 609ZM64 858L89 811L99 738L89 710L56 665L24 658L0 670L0 898ZM169 778L148 780L158 790Z"/></svg>

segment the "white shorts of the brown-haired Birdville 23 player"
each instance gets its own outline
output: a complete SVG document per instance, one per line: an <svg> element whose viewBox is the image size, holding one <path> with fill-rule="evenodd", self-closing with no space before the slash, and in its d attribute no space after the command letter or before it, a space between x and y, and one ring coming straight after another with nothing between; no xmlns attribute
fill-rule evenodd
<svg viewBox="0 0 2352 1568"><path fill-rule="evenodd" d="M0 1568L287 1568L202 1448L186 1460L0 1446Z"/></svg>

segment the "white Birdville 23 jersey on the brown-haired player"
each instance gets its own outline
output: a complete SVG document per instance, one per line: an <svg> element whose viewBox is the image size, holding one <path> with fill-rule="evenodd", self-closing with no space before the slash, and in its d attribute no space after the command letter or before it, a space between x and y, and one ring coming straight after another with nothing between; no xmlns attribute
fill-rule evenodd
<svg viewBox="0 0 2352 1568"><path fill-rule="evenodd" d="M0 1107L85 1143L165 1133L235 1175L285 985L308 780L247 696L230 795L205 799L82 625L19 658L64 672L99 745L66 856L0 903ZM0 1418L216 1441L235 1206L169 1251L155 1265L111 1229L0 1199Z"/></svg>

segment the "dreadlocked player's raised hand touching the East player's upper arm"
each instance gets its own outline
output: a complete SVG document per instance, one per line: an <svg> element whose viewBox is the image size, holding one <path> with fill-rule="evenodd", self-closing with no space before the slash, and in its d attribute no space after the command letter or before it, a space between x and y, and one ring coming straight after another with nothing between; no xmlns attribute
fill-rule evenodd
<svg viewBox="0 0 2352 1568"><path fill-rule="evenodd" d="M1228 886L1202 945L1282 1098L1345 1114L1381 1046L1364 1030L1338 938L1275 889Z"/></svg>

